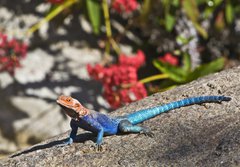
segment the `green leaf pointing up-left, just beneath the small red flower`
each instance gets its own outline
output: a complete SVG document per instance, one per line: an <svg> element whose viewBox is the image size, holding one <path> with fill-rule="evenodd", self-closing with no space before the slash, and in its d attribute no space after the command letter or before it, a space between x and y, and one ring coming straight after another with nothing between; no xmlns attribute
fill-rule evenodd
<svg viewBox="0 0 240 167"><path fill-rule="evenodd" d="M162 63L159 60L154 60L153 65L162 73L167 74L169 78L175 82L182 83L186 80L186 72L180 67L175 67L168 63Z"/></svg>

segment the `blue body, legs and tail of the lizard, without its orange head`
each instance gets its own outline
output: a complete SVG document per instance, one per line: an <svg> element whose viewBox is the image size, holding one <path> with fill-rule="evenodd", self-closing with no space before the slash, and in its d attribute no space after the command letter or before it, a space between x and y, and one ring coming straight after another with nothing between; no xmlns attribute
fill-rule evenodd
<svg viewBox="0 0 240 167"><path fill-rule="evenodd" d="M200 104L206 102L221 102L230 101L230 97L225 96L198 96L190 97L183 100L171 102L164 104L162 106L156 106L149 109L139 110L132 114L128 114L122 117L110 117L99 112L91 111L90 114L83 116L80 120L76 121L72 119L71 121L71 134L69 140L65 144L71 144L73 139L76 137L77 129L82 128L87 131L91 131L97 134L97 145L100 145L103 140L103 135L114 135L119 132L143 132L145 134L150 134L149 129L143 128L141 126L136 126L136 124L141 123L145 120L153 118L163 112L180 108L183 106L188 106L192 104Z"/></svg>

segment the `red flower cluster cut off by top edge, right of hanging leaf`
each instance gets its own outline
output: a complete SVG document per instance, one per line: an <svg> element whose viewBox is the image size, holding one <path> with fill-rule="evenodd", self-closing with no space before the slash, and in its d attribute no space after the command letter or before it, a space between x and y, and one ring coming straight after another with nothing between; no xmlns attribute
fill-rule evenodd
<svg viewBox="0 0 240 167"><path fill-rule="evenodd" d="M138 2L137 0L114 0L112 3L113 9L118 13L130 13L137 9Z"/></svg>

